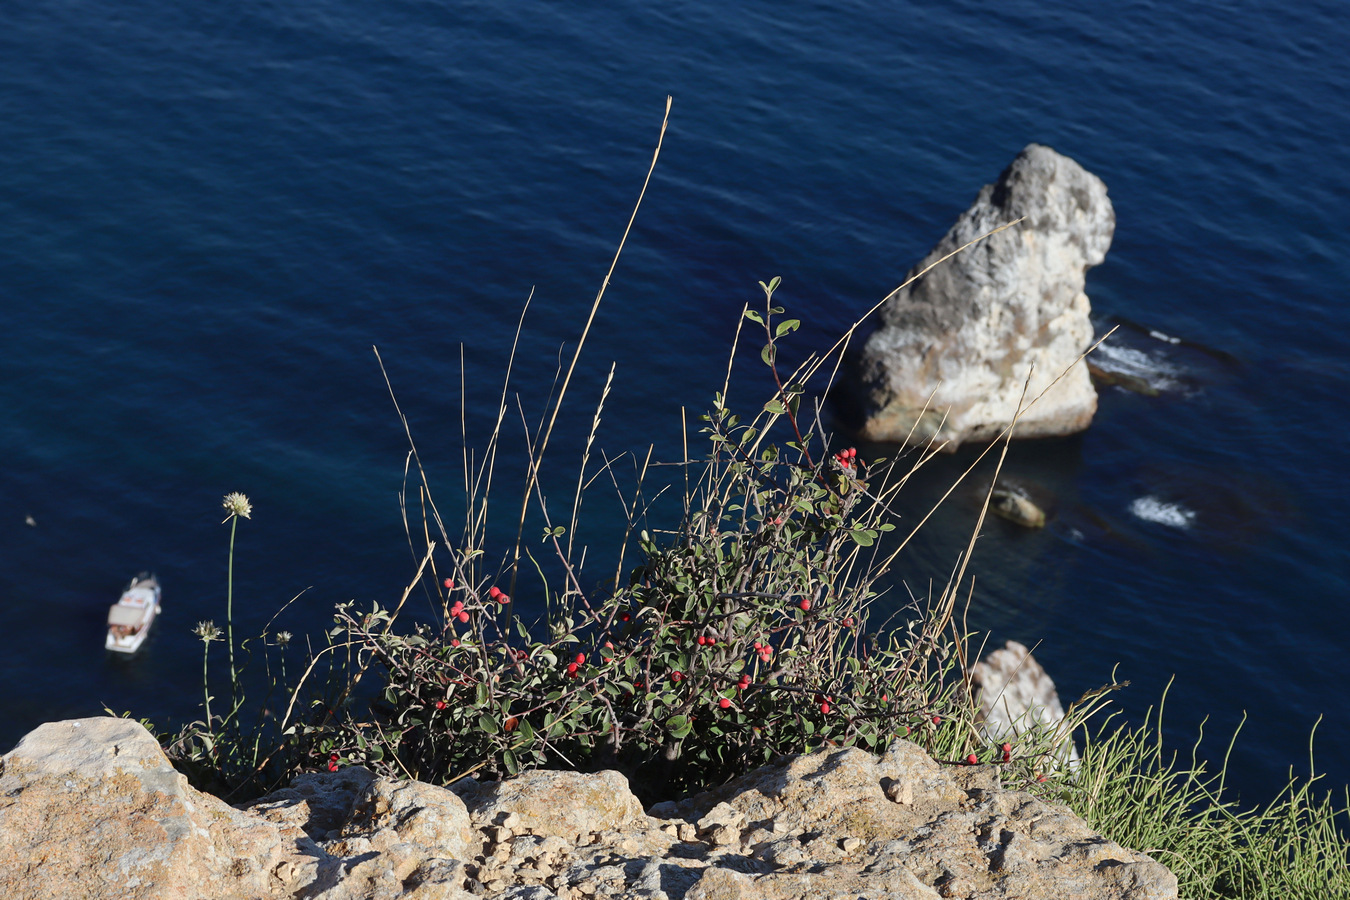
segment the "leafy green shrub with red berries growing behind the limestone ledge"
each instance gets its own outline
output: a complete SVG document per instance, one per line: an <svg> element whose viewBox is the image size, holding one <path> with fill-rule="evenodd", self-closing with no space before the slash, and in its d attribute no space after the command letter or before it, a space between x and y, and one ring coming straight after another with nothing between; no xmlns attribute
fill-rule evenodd
<svg viewBox="0 0 1350 900"><path fill-rule="evenodd" d="M617 766L649 796L822 745L880 752L895 737L940 758L1017 762L1026 777L1052 762L1049 741L1030 754L983 745L950 630L954 590L869 630L898 482L853 448L828 452L818 417L799 421L803 387L775 362L798 322L775 324L778 279L763 287L765 309L747 320L765 332L779 387L751 422L716 397L682 521L662 537L629 522L641 561L626 584L583 588L566 529L548 524L563 583L544 583L549 615L531 626L483 576L478 540L432 542L428 559L450 575L418 575L435 579L439 622L404 631L397 609L339 609L331 638L351 654L350 680L374 671L382 687L369 711L354 691L336 708L316 700L323 715L292 730L313 760L431 781ZM767 437L775 428L782 444Z"/></svg>

